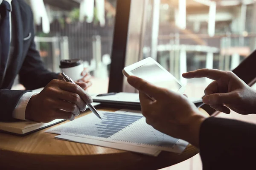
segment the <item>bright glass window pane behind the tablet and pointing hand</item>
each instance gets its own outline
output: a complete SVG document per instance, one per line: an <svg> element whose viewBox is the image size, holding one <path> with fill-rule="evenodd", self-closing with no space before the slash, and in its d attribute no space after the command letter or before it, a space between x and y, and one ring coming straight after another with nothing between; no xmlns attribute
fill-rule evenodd
<svg viewBox="0 0 256 170"><path fill-rule="evenodd" d="M188 96L202 97L212 80L183 79L182 73L200 68L230 71L255 49L254 1L246 4L227 0L144 2L145 28L141 33L144 41L140 47L143 57L134 57L156 59L186 85ZM156 23L158 29L153 29ZM155 40L157 45L152 43Z"/></svg>

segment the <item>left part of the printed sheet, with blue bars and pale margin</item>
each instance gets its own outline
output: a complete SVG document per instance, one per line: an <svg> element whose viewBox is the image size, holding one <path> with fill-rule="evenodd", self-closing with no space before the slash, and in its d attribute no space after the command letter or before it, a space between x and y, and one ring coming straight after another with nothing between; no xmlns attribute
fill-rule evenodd
<svg viewBox="0 0 256 170"><path fill-rule="evenodd" d="M83 137L93 136L109 138L113 134L143 118L142 115L138 114L122 114L113 112L102 112L101 117L102 120L98 119L92 113L72 122L52 128L48 132Z"/></svg>

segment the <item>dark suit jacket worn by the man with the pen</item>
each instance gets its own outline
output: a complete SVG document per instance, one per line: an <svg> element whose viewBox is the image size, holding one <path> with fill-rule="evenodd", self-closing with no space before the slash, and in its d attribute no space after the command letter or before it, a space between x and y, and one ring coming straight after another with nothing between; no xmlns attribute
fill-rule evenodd
<svg viewBox="0 0 256 170"><path fill-rule="evenodd" d="M44 68L40 55L35 48L34 20L31 8L23 0L12 0L12 20L14 25L14 56L11 65L7 68L3 85L0 87L0 121L12 119L14 111L20 97L27 91L14 91L13 82L17 74L27 90L44 87L52 79L57 78L57 74L47 71ZM32 34L29 40L24 40ZM0 48L1 50L1 48Z"/></svg>

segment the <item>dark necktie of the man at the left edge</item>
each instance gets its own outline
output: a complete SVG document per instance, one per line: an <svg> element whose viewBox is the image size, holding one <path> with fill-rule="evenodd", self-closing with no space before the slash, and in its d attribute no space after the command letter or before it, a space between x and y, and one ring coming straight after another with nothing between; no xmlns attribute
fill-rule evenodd
<svg viewBox="0 0 256 170"><path fill-rule="evenodd" d="M0 79L3 81L3 75L7 65L7 59L10 50L10 4L3 0L0 5L0 42L1 42L1 59L0 59Z"/></svg>

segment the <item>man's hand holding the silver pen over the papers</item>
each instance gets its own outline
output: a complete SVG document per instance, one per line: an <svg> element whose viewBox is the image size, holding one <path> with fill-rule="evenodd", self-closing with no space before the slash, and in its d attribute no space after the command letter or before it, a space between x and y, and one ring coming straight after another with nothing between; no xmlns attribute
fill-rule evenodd
<svg viewBox="0 0 256 170"><path fill-rule="evenodd" d="M86 110L86 103L93 99L84 89L84 82L52 80L39 93L31 97L26 107L25 118L37 122L51 122L54 119L73 120L80 111Z"/></svg>

